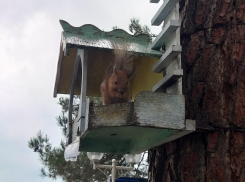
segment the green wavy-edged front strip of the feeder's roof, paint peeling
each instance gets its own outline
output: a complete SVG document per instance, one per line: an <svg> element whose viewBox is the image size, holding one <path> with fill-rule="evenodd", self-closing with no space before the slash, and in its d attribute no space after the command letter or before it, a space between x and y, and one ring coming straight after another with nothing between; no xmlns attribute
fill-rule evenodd
<svg viewBox="0 0 245 182"><path fill-rule="evenodd" d="M162 55L162 52L150 48L151 41L146 34L135 36L122 29L105 32L91 24L73 27L64 20L60 20L60 24L64 30L62 43L65 55L68 55L69 48L73 47L112 49L111 42L127 42L128 51L139 56L159 58Z"/></svg>

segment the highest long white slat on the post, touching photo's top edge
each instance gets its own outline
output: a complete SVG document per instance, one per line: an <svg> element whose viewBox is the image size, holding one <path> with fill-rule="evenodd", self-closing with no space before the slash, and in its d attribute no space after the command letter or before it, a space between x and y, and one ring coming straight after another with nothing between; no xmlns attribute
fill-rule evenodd
<svg viewBox="0 0 245 182"><path fill-rule="evenodd" d="M163 5L152 18L151 24L157 26L160 25L163 20L169 15L169 13L174 9L177 2L178 0L165 0Z"/></svg>

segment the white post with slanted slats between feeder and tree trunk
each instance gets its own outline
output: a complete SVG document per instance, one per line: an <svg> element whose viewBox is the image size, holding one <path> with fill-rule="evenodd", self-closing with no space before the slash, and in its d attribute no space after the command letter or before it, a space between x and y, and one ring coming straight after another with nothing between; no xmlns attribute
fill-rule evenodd
<svg viewBox="0 0 245 182"><path fill-rule="evenodd" d="M150 0L158 3L159 0ZM163 55L153 65L153 72L163 72L163 78L152 88L152 91L165 91L171 94L182 94L181 68L182 47L180 45L180 25L178 0L164 0L163 4L151 20L153 26L163 23L162 31L153 41L151 48L162 50Z"/></svg>

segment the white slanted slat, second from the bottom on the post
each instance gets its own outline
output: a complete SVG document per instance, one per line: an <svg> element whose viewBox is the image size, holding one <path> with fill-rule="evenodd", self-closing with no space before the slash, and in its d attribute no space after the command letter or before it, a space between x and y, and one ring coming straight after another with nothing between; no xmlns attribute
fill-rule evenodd
<svg viewBox="0 0 245 182"><path fill-rule="evenodd" d="M160 73L164 68L166 68L172 61L173 58L181 53L182 47L180 45L173 45L166 50L162 57L153 65L152 71Z"/></svg>

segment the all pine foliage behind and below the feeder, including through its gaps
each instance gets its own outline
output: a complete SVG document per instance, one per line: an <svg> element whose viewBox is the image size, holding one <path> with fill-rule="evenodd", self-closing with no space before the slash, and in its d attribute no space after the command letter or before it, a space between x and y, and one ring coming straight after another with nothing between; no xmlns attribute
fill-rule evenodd
<svg viewBox="0 0 245 182"><path fill-rule="evenodd" d="M94 98L95 104L101 102L100 98ZM67 115L68 115L68 98L60 98L59 105L61 106L61 115L57 117L58 125L62 129L62 133L65 136L67 127ZM79 105L79 98L74 99L73 118L77 116ZM62 178L65 182L92 182L92 181L106 181L107 177L102 172L92 169L92 164L85 152L81 152L76 162L66 162L64 159L65 143L61 141L59 147L53 147L49 142L47 135L43 135L41 131L37 135L31 138L28 145L34 152L39 154L39 158L43 167L41 168L41 176L56 179ZM101 164L111 165L111 160L116 159L117 165L125 166L125 158L123 155L116 154L104 154L101 159ZM117 171L117 176L133 175L136 177L145 177L147 175L146 162L142 160L141 165L138 165L135 172ZM111 174L110 170L104 171L107 175Z"/></svg>

